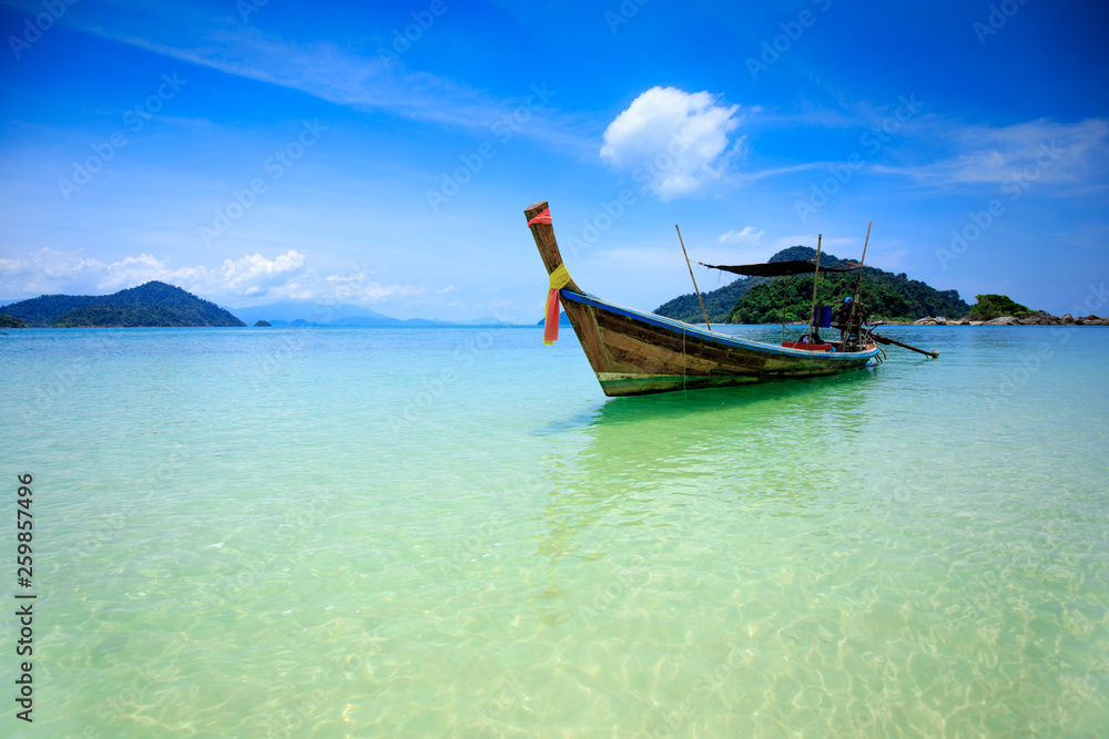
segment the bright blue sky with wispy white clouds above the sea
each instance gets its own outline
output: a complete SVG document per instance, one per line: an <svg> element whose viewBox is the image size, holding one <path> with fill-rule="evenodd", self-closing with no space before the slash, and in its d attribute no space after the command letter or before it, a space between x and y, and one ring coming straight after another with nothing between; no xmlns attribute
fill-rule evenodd
<svg viewBox="0 0 1109 739"><path fill-rule="evenodd" d="M873 220L868 264L968 301L1103 299L1109 7L734 4L8 2L0 301L533 322L539 199L643 309L690 291L674 224L736 264Z"/></svg>

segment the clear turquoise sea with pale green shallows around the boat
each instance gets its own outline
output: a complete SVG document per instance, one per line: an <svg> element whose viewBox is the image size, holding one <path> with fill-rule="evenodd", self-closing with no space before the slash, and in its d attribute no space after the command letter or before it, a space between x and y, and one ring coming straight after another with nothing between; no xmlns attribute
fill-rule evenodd
<svg viewBox="0 0 1109 739"><path fill-rule="evenodd" d="M1109 330L619 399L540 331L0 336L0 735L33 592L31 736L1109 736Z"/></svg>

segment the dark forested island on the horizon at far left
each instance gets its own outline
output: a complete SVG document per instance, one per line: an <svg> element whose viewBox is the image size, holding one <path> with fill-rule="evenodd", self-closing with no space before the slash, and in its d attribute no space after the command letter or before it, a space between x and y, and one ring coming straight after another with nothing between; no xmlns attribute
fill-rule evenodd
<svg viewBox="0 0 1109 739"><path fill-rule="evenodd" d="M43 295L0 314L29 328L245 326L214 302L156 280L112 295Z"/></svg>

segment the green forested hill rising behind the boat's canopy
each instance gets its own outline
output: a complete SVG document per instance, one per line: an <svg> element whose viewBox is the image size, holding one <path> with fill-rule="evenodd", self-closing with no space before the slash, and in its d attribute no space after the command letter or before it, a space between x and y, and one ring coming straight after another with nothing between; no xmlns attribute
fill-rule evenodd
<svg viewBox="0 0 1109 739"><path fill-rule="evenodd" d="M791 246L772 256L769 261L815 258L816 249ZM843 261L847 260L827 253L821 254L822 267L834 267ZM851 295L854 285L854 273L830 273L826 278L821 279L818 299L824 304L840 302ZM813 295L812 286L812 276L804 275L741 277L701 297L711 322L806 321ZM970 312L970 306L959 297L957 290L937 290L919 280L908 279L905 273L895 275L874 267L863 268L862 302L875 318L891 320L916 320L926 316L962 317ZM654 312L690 324L704 322L701 305L692 292L662 304Z"/></svg>

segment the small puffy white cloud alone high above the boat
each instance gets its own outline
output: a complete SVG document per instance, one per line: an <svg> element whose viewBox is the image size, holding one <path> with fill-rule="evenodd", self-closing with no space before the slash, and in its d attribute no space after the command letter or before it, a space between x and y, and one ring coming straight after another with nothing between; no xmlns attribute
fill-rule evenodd
<svg viewBox="0 0 1109 739"><path fill-rule="evenodd" d="M647 174L662 199L691 194L720 179L741 123L739 105L716 105L708 92L651 88L604 130L601 158L618 170ZM731 148L730 148L731 146Z"/></svg>

